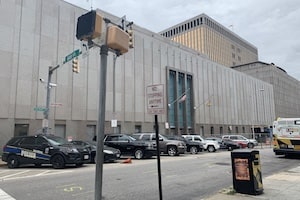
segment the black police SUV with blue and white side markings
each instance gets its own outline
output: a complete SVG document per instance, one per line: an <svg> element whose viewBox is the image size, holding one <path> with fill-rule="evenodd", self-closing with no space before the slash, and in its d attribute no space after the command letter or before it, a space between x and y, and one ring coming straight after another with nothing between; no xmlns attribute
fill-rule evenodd
<svg viewBox="0 0 300 200"><path fill-rule="evenodd" d="M39 134L10 139L3 147L2 160L7 162L9 168L17 168L22 164L52 164L53 168L61 169L66 164L81 166L90 162L90 152L64 138Z"/></svg>

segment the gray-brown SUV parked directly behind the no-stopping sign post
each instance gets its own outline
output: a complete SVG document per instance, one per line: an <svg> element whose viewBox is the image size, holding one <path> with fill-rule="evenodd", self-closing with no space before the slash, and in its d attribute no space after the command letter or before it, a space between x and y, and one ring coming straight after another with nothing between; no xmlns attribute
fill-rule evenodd
<svg viewBox="0 0 300 200"><path fill-rule="evenodd" d="M156 145L156 133L134 133L132 137ZM161 153L168 154L169 156L184 154L186 151L186 145L183 141L170 140L161 134L159 135L159 148Z"/></svg>

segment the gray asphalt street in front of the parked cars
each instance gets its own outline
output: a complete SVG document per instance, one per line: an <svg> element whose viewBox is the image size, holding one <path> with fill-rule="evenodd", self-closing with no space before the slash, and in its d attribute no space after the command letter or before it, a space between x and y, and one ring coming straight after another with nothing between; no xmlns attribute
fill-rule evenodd
<svg viewBox="0 0 300 200"><path fill-rule="evenodd" d="M260 150L263 178L298 166L298 159L278 158L272 149ZM203 152L179 157L161 156L165 200L194 200L232 185L230 152ZM51 167L0 168L0 192L16 200L93 200L95 165L54 170ZM104 164L103 199L159 199L156 159L130 164Z"/></svg>

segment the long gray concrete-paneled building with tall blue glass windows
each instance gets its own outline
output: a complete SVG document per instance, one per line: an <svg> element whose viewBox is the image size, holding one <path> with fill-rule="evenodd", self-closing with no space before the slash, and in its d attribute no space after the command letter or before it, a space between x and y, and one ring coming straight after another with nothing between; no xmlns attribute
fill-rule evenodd
<svg viewBox="0 0 300 200"><path fill-rule="evenodd" d="M14 135L35 134L42 127L48 67L61 64L82 44L76 40L77 18L87 11L62 0L0 3L0 145ZM118 23L120 19L100 11ZM126 13L120 13L123 15ZM146 88L164 85L161 133L251 133L275 118L273 86L184 47L138 25L134 48L116 60L108 56L105 132L153 131ZM99 49L79 57L80 73L66 63L53 73L49 126L66 138L91 139L96 132L99 97ZM260 92L263 89L264 92ZM179 98L186 94L185 101ZM115 104L113 97L115 96ZM170 104L170 105L169 105ZM115 107L114 107L115 105Z"/></svg>

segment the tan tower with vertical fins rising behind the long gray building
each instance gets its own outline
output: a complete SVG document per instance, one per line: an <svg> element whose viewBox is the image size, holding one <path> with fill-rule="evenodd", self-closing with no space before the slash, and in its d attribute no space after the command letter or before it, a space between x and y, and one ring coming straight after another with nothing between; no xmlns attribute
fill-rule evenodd
<svg viewBox="0 0 300 200"><path fill-rule="evenodd" d="M258 61L257 48L205 14L160 32L227 67Z"/></svg>

